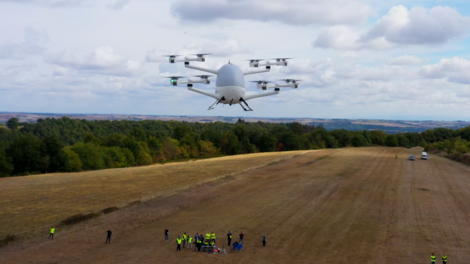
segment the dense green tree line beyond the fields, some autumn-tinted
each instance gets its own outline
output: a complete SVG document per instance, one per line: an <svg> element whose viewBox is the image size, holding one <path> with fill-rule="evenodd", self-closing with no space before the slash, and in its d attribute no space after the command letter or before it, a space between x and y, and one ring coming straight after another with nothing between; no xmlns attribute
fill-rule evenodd
<svg viewBox="0 0 470 264"><path fill-rule="evenodd" d="M255 152L363 146L438 148L456 142L468 152L470 127L421 133L326 130L321 125L62 118L0 127L0 176L122 168ZM447 142L447 141L445 141ZM443 143L444 145L448 143ZM447 145L446 145L447 146Z"/></svg>

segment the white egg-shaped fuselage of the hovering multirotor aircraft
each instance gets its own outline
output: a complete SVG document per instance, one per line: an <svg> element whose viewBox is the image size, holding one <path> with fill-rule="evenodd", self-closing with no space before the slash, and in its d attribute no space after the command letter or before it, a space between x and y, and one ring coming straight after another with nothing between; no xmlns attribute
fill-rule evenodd
<svg viewBox="0 0 470 264"><path fill-rule="evenodd" d="M215 93L223 98L220 103L237 104L245 95L245 78L240 67L234 64L225 64L217 72Z"/></svg>

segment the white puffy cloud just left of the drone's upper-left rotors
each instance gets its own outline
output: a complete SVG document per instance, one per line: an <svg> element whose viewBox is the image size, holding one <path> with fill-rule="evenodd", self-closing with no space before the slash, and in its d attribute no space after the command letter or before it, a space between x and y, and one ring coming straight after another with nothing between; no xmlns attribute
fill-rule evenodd
<svg viewBox="0 0 470 264"><path fill-rule="evenodd" d="M109 47L99 47L86 55L62 52L48 54L45 60L61 67L73 68L86 73L118 76L135 76L141 72L142 63L114 53ZM60 71L57 71L60 73Z"/></svg>

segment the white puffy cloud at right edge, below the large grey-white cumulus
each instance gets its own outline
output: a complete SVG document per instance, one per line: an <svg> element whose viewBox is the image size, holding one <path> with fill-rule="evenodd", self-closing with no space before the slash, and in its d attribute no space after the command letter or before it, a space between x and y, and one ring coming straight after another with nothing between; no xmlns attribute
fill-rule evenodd
<svg viewBox="0 0 470 264"><path fill-rule="evenodd" d="M436 64L425 65L420 75L429 79L445 79L452 83L470 84L470 61L453 57L442 59Z"/></svg>

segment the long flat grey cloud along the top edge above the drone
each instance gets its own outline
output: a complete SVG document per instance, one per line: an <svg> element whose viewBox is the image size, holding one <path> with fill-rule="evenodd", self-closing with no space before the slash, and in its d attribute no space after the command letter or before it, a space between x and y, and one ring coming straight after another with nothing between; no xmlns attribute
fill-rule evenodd
<svg viewBox="0 0 470 264"><path fill-rule="evenodd" d="M293 25L357 24L373 13L359 0L175 0L170 10L187 21L247 19Z"/></svg>

